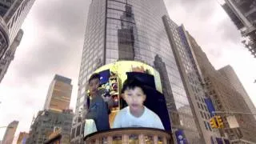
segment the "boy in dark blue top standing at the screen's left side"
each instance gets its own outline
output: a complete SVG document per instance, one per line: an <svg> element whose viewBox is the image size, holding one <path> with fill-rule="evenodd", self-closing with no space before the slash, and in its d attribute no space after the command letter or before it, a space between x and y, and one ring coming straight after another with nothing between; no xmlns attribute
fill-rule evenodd
<svg viewBox="0 0 256 144"><path fill-rule="evenodd" d="M88 110L86 119L93 119L98 131L109 130L109 101L104 98L104 90L98 90L100 86L100 74L92 74L89 78L90 100L87 102Z"/></svg>

